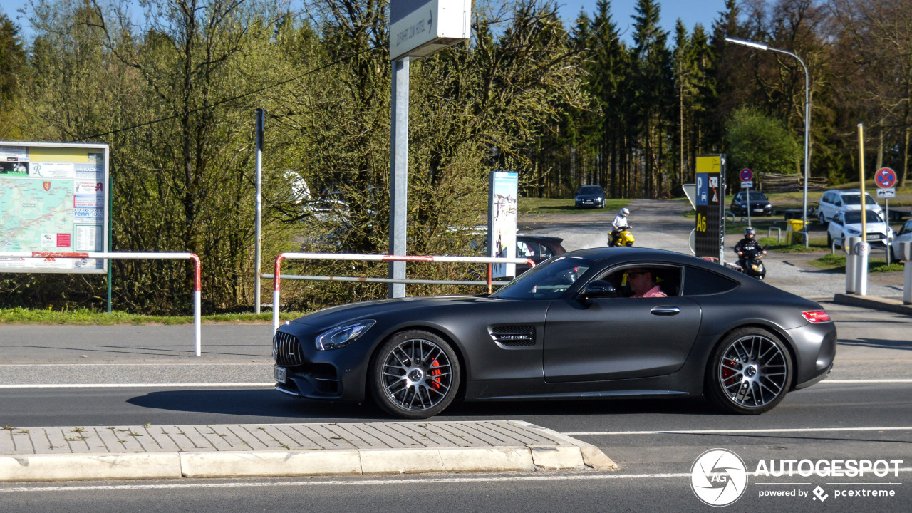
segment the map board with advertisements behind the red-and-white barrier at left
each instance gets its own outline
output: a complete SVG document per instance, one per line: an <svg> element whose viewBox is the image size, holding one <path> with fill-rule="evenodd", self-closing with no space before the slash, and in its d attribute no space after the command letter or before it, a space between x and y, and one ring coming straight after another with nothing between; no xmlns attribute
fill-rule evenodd
<svg viewBox="0 0 912 513"><path fill-rule="evenodd" d="M107 144L0 141L0 252L108 248ZM105 273L95 258L0 257L0 272Z"/></svg>

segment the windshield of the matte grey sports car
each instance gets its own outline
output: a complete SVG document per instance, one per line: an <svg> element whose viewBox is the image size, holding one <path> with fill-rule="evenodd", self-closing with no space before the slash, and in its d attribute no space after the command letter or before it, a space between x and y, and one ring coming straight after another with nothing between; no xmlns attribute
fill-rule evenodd
<svg viewBox="0 0 912 513"><path fill-rule="evenodd" d="M556 257L524 272L491 295L502 299L559 298L593 262L579 257Z"/></svg>

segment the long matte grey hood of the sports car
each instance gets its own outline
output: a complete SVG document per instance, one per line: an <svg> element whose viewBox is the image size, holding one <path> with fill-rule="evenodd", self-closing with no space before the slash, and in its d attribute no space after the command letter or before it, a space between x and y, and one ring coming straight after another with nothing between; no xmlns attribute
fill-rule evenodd
<svg viewBox="0 0 912 513"><path fill-rule="evenodd" d="M337 307L322 309L304 317L293 320L297 324L306 324L318 328L329 328L359 319L374 319L386 315L402 316L407 311L416 309L448 308L459 305L497 301L498 299L477 296L431 296L423 298L377 299L359 301Z"/></svg>

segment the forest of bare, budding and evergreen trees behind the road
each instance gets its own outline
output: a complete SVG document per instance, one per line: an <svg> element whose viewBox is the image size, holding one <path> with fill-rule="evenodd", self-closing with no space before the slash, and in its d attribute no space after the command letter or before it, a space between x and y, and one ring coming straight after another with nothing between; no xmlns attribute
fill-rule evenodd
<svg viewBox="0 0 912 513"><path fill-rule="evenodd" d="M625 42L607 0L569 24L550 0L480 0L471 41L412 62L409 254L476 252L493 170L519 173L521 196L598 183L616 198L680 195L706 153L728 154L730 173L751 167L760 183L800 173L803 69L725 37L807 64L812 176L856 180L865 123L866 165L891 166L905 184L912 2L727 0L711 26L679 21L672 33L658 1L637 0L636 12ZM250 309L257 108L267 111L264 268L288 250L387 251L386 0L307 0L297 11L264 0L37 0L30 13L29 40L0 14L0 140L109 143L115 251L197 253L204 309ZM118 309L192 304L185 264L113 269ZM409 277L471 272L409 267ZM386 270L306 267L352 273ZM0 306L98 309L106 288L97 276L6 275ZM285 297L313 309L385 291L297 282Z"/></svg>

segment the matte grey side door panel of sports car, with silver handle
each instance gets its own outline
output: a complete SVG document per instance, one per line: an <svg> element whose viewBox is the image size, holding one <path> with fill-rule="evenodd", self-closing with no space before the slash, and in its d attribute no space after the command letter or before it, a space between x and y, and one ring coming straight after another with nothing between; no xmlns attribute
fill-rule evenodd
<svg viewBox="0 0 912 513"><path fill-rule="evenodd" d="M675 372L687 359L700 318L700 306L690 298L555 300L545 317L545 382Z"/></svg>

